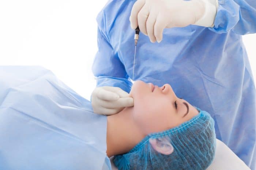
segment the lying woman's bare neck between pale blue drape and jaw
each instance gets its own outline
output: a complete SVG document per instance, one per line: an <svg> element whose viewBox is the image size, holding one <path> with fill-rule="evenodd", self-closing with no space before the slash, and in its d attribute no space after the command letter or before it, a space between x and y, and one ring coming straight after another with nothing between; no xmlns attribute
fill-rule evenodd
<svg viewBox="0 0 256 170"><path fill-rule="evenodd" d="M146 136L134 122L132 112L132 107L126 107L118 114L108 116L108 157L127 153Z"/></svg>

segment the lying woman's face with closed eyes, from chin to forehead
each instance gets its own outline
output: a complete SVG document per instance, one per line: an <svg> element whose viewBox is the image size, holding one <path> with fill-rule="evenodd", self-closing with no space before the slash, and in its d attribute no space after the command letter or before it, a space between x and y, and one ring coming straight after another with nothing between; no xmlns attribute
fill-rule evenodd
<svg viewBox="0 0 256 170"><path fill-rule="evenodd" d="M145 135L171 129L198 114L195 107L175 95L169 84L158 87L139 80L129 95L134 100L133 118Z"/></svg>

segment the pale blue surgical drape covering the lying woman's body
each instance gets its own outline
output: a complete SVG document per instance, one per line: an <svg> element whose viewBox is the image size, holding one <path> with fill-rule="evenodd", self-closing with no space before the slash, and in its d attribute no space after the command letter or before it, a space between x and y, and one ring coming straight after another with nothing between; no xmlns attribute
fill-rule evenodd
<svg viewBox="0 0 256 170"><path fill-rule="evenodd" d="M111 169L106 116L42 67L0 67L0 169Z"/></svg>

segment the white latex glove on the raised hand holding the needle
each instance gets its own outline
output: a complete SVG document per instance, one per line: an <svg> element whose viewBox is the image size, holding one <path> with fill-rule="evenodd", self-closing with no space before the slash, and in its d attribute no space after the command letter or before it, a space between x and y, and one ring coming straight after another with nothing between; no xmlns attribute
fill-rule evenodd
<svg viewBox="0 0 256 170"><path fill-rule="evenodd" d="M151 42L162 40L164 28L194 24L213 27L218 0L137 0L132 7L132 29L139 25Z"/></svg>

